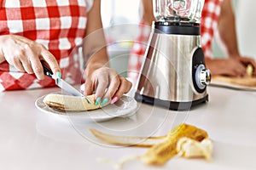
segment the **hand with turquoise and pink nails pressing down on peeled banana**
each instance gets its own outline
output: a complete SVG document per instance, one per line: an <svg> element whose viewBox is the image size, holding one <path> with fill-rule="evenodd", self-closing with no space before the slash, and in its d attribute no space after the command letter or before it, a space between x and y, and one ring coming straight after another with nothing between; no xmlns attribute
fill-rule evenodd
<svg viewBox="0 0 256 170"><path fill-rule="evenodd" d="M102 67L87 75L84 94L96 92L96 105L113 104L131 89L131 82L119 76L117 71Z"/></svg>

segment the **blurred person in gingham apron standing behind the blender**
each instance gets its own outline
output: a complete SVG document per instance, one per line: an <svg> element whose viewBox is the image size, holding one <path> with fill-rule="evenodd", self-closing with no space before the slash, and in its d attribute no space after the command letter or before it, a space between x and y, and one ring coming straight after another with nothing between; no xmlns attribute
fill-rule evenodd
<svg viewBox="0 0 256 170"><path fill-rule="evenodd" d="M147 48L150 26L154 21L153 1L141 0L142 21L141 35L131 48L128 76L137 80ZM212 40L218 35L227 54L226 58L214 59ZM236 39L236 20L231 0L205 0L201 14L201 45L206 57L207 68L212 76L247 77L247 65L253 66L256 75L256 63L252 58L241 56Z"/></svg>

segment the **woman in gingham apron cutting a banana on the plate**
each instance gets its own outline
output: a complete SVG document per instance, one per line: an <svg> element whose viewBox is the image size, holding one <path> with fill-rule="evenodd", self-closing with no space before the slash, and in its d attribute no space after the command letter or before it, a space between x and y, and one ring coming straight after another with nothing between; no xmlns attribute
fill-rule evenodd
<svg viewBox="0 0 256 170"><path fill-rule="evenodd" d="M129 92L131 82L108 66L101 0L0 0L0 5L0 91L55 86L44 76L43 59L67 82L86 77L84 94L95 91L96 105ZM88 60L85 71L73 51L79 46Z"/></svg>

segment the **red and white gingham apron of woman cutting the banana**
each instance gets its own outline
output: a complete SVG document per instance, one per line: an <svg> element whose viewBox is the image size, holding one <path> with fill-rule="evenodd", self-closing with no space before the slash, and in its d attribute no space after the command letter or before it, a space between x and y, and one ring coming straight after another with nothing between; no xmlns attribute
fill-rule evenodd
<svg viewBox="0 0 256 170"><path fill-rule="evenodd" d="M0 35L15 34L42 43L61 66L68 82L81 82L79 57L73 49L82 43L86 11L93 0L0 0ZM72 55L71 55L72 54ZM32 74L0 64L0 91L45 88L55 82L45 77L38 81Z"/></svg>

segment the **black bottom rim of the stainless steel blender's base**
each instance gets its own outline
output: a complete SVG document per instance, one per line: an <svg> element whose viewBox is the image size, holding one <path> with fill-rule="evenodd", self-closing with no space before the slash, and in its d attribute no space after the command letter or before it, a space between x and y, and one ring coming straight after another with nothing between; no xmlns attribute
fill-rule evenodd
<svg viewBox="0 0 256 170"><path fill-rule="evenodd" d="M208 101L208 94L201 99L197 99L189 102L177 102L177 101L166 101L161 99L154 99L142 94L135 94L135 99L138 102L142 102L149 105L160 106L172 111L189 111L196 105L204 104Z"/></svg>

